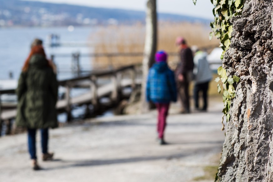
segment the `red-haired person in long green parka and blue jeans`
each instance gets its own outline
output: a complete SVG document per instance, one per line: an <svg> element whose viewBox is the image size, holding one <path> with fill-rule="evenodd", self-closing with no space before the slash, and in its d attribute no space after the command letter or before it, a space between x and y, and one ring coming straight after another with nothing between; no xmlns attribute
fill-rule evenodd
<svg viewBox="0 0 273 182"><path fill-rule="evenodd" d="M16 90L18 97L16 125L28 128L28 149L34 170L41 169L36 156L36 129L41 129L43 160L52 159L48 153L48 128L58 127L55 108L58 82L51 63L46 59L42 41L32 45L24 63Z"/></svg>

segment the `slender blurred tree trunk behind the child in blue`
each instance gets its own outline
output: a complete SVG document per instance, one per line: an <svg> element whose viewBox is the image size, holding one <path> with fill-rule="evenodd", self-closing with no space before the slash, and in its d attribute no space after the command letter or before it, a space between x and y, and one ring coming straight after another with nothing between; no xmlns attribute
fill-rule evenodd
<svg viewBox="0 0 273 182"><path fill-rule="evenodd" d="M142 88L141 88L141 109L147 112L150 109L149 103L145 101L146 97L146 79L149 68L154 63L154 54L157 46L157 14L156 0L148 0L146 9L146 37L144 47L144 58L142 63Z"/></svg>

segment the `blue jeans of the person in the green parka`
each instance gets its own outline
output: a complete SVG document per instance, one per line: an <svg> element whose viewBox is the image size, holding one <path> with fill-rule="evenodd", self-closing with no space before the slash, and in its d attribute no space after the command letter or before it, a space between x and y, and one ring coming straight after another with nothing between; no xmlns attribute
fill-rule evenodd
<svg viewBox="0 0 273 182"><path fill-rule="evenodd" d="M48 153L48 128L41 129L42 153ZM28 151L31 159L37 159L36 156L36 129L28 129Z"/></svg>

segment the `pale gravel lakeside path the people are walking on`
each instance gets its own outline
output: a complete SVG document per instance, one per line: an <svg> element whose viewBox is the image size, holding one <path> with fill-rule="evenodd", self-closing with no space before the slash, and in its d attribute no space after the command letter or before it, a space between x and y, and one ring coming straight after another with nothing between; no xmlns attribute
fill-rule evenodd
<svg viewBox="0 0 273 182"><path fill-rule="evenodd" d="M222 144L221 102L210 101L207 113L178 114L173 104L165 140L156 141L156 111L87 119L50 130L53 161L30 168L27 135L0 138L0 181L3 182L192 182L205 168L219 164ZM37 141L40 140L38 132ZM203 180L201 180L203 179Z"/></svg>

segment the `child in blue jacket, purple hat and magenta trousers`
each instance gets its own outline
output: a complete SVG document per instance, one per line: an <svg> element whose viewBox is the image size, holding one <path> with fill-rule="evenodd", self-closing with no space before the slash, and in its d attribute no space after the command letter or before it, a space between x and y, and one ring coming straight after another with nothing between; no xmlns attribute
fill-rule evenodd
<svg viewBox="0 0 273 182"><path fill-rule="evenodd" d="M149 70L146 99L152 101L158 110L157 132L159 144L166 144L164 141L164 130L168 115L169 104L176 102L176 83L174 72L171 71L166 63L167 53L159 51L155 54L155 61Z"/></svg>

